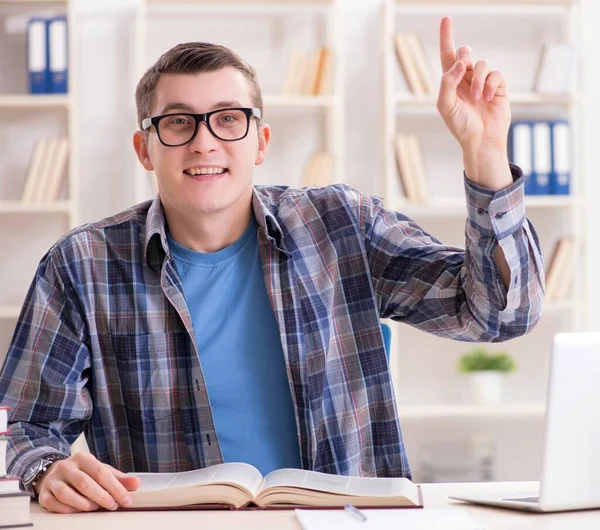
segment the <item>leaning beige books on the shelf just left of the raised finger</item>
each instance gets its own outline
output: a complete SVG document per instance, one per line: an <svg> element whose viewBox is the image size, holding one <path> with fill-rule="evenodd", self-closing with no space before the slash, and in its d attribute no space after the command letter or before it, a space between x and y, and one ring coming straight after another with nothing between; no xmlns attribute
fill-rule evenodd
<svg viewBox="0 0 600 530"><path fill-rule="evenodd" d="M396 33L394 49L398 64L413 94L431 94L435 88L423 43L413 32Z"/></svg>

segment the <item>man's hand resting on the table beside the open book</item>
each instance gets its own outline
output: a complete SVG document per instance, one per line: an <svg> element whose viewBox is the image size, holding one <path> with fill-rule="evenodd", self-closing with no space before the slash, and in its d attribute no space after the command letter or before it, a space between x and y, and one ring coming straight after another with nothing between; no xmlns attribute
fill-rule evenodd
<svg viewBox="0 0 600 530"><path fill-rule="evenodd" d="M75 513L127 507L131 504L128 491L139 486L138 477L103 464L91 454L78 453L52 464L35 489L39 503L48 511Z"/></svg>

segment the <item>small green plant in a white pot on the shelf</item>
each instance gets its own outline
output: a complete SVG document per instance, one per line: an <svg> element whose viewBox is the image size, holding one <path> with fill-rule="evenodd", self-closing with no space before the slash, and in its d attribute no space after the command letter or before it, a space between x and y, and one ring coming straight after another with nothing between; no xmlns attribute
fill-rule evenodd
<svg viewBox="0 0 600 530"><path fill-rule="evenodd" d="M515 370L514 359L506 352L491 353L484 347L463 354L458 370L469 374L475 398L482 404L502 401L504 377Z"/></svg>

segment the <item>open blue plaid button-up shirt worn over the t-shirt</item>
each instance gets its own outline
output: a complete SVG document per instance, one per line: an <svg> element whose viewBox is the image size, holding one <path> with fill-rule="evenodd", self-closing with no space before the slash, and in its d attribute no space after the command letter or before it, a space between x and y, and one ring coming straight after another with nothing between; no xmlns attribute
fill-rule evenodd
<svg viewBox="0 0 600 530"><path fill-rule="evenodd" d="M254 188L304 469L411 476L381 318L464 341L510 339L538 321L542 257L518 169L513 176L495 193L465 180L466 251L344 185ZM508 291L492 257L498 244ZM123 471L222 462L158 199L71 231L43 257L0 405L12 407L16 476L42 454L69 454L81 431L99 460Z"/></svg>

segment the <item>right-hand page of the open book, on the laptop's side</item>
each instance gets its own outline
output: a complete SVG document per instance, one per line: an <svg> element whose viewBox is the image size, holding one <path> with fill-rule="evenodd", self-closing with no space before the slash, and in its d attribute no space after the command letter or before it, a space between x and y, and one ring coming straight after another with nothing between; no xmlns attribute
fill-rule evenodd
<svg viewBox="0 0 600 530"><path fill-rule="evenodd" d="M278 469L269 473L262 490L295 487L353 497L416 498L416 486L407 478L345 477L303 469Z"/></svg>

